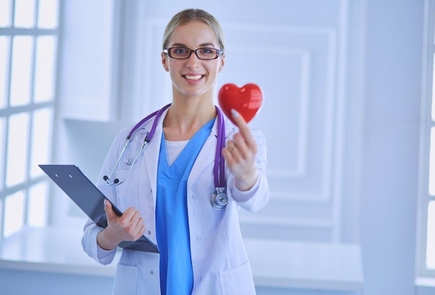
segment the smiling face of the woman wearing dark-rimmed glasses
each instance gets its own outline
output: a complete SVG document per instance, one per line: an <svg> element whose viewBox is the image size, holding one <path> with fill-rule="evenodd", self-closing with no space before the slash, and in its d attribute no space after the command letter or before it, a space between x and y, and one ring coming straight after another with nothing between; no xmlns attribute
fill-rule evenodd
<svg viewBox="0 0 435 295"><path fill-rule="evenodd" d="M169 47L188 47L197 49L199 47L213 47L220 49L219 42L213 29L204 22L194 21L179 26L174 33ZM224 56L213 60L201 60L195 52L192 52L188 59L170 58L162 53L163 67L170 72L174 95L185 97L201 97L213 94L217 74L224 65Z"/></svg>

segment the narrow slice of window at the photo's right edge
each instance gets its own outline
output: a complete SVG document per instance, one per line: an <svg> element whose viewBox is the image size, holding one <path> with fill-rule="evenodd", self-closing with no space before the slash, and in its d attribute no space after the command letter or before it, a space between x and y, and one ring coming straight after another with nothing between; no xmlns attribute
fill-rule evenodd
<svg viewBox="0 0 435 295"><path fill-rule="evenodd" d="M435 278L435 0L425 1L422 61L418 278Z"/></svg>

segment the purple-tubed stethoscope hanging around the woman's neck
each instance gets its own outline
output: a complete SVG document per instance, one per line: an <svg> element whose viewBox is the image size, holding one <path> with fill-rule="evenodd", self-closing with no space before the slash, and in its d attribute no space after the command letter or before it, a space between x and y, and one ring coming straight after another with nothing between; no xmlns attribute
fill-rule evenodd
<svg viewBox="0 0 435 295"><path fill-rule="evenodd" d="M133 169L134 164L136 164L136 161L142 151L145 149L145 146L151 141L151 138L154 136L154 132L156 131L156 126L158 123L158 119L161 118L161 115L163 112L170 107L171 104L167 104L166 106L163 106L162 109L155 111L154 113L151 113L147 115L147 117L143 118L136 124L130 131L129 135L127 136L126 142L124 143L124 148L122 148L120 157L118 157L115 166L113 166L112 170L110 171L109 175L104 175L103 179L106 181L107 185L120 185L123 182L125 182L126 178L129 176L131 169ZM214 209L220 210L224 208L228 203L228 196L225 193L225 160L224 157L222 157L222 148L224 148L225 145L225 124L224 124L224 116L222 115L222 112L220 109L215 106L217 111L217 144L216 144L216 152L215 152L215 166L213 167L213 175L214 175L214 181L215 181L215 191L211 194L210 197L210 204L211 207ZM120 164L120 161L122 159L122 156L124 156L124 153L129 146L129 143L131 142L131 136L133 136L134 132L142 126L145 122L147 122L149 119L154 118L153 125L151 127L151 130L147 133L145 136L144 143L140 147L140 150L136 153L136 156L134 157L133 161L129 161L130 167L129 170L127 170L126 174L124 175L124 178L120 181L119 179L115 178L113 182L110 181L110 177L112 177L113 173L115 172L115 169Z"/></svg>

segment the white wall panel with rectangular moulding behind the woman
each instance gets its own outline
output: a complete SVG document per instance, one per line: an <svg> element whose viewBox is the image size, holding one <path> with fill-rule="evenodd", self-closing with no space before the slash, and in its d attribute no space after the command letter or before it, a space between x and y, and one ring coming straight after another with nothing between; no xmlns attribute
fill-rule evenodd
<svg viewBox="0 0 435 295"><path fill-rule="evenodd" d="M193 1L195 2L195 1ZM276 2L276 3L275 3ZM257 3L258 4L258 3ZM227 42L224 83L257 83L264 103L250 125L268 140L271 200L255 214L240 212L244 234L258 227L286 239L338 239L343 171L343 119L347 57L347 1L272 1L250 9L243 1L227 6L203 3L221 22ZM172 99L170 77L161 65L163 30L173 13L158 3L142 6L147 17L141 110L149 113ZM188 6L195 7L195 6ZM235 12L245 11L236 17ZM145 113L143 113L145 115ZM273 225L273 227L271 227ZM270 228L274 228L270 231ZM304 234L305 232L305 234Z"/></svg>

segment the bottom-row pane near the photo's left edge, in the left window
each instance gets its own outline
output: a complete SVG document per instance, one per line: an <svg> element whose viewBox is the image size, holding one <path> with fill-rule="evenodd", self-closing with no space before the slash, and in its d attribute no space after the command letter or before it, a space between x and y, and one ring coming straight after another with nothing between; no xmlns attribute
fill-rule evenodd
<svg viewBox="0 0 435 295"><path fill-rule="evenodd" d="M21 230L24 226L24 192L19 191L5 199L3 237Z"/></svg>

